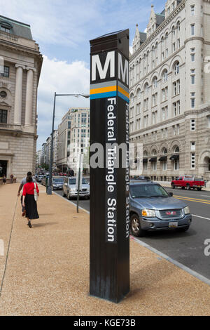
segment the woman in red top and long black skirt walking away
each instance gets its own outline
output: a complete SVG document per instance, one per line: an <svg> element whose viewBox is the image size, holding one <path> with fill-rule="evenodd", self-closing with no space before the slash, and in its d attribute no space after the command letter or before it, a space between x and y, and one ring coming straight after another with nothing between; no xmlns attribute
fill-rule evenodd
<svg viewBox="0 0 210 330"><path fill-rule="evenodd" d="M37 183L33 182L32 176L27 176L27 183L23 187L22 192L22 206L25 207L25 217L28 220L28 226L31 228L31 220L39 219L37 211L37 203L35 200L34 190L39 194Z"/></svg>

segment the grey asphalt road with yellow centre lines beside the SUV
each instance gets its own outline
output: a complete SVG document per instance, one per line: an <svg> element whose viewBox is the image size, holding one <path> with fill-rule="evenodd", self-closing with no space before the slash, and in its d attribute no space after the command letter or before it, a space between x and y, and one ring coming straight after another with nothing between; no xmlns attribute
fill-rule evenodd
<svg viewBox="0 0 210 330"><path fill-rule="evenodd" d="M165 253L170 258L186 265L210 279L210 256L204 255L204 241L210 239L210 192L197 190L172 190L174 197L183 200L193 214L193 223L188 232L148 232L139 240ZM62 194L62 192L59 192ZM76 200L72 201L76 204ZM80 200L80 207L90 211L90 201Z"/></svg>

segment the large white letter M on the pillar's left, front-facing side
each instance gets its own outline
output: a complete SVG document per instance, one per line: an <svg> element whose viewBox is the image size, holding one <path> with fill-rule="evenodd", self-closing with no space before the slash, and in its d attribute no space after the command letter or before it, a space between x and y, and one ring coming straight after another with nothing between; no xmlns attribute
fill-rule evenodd
<svg viewBox="0 0 210 330"><path fill-rule="evenodd" d="M96 68L98 68L100 79L105 79L107 71L110 64L110 78L115 77L115 52L110 51L106 55L106 62L104 64L104 69L102 68L102 63L100 61L99 55L92 56L92 81L96 80Z"/></svg>

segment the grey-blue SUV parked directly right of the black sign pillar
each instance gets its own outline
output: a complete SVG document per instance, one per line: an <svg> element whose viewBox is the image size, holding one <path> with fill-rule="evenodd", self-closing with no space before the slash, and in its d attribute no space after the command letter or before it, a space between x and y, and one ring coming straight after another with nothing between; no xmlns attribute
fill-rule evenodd
<svg viewBox="0 0 210 330"><path fill-rule="evenodd" d="M146 231L187 231L192 222L190 209L158 183L133 180L130 183L130 230L142 237Z"/></svg>

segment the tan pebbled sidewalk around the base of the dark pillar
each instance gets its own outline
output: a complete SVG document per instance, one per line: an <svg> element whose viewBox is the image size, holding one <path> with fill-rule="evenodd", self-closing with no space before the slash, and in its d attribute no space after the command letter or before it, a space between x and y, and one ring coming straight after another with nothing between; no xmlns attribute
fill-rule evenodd
<svg viewBox="0 0 210 330"><path fill-rule="evenodd" d="M130 294L118 305L89 296L89 215L40 189L30 230L18 184L0 187L0 315L210 315L209 285L133 239Z"/></svg>

